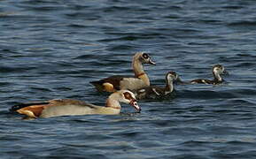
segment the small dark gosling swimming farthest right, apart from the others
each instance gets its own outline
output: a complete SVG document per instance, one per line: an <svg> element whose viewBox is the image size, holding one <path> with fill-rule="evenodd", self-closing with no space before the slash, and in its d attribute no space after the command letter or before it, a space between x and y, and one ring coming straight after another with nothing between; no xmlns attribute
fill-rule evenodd
<svg viewBox="0 0 256 159"><path fill-rule="evenodd" d="M213 80L212 79L193 79L190 81L190 83L217 85L224 81L224 79L221 78L221 74L228 74L228 72L225 70L224 66L222 66L221 64L215 64L213 65L213 78L214 78Z"/></svg>

